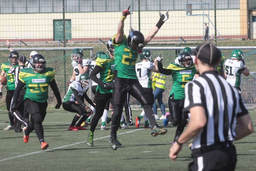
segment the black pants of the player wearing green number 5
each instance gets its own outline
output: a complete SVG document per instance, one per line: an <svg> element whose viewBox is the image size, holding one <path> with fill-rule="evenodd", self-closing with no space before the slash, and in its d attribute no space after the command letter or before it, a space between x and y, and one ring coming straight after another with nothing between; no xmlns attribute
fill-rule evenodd
<svg viewBox="0 0 256 171"><path fill-rule="evenodd" d="M173 126L178 126L175 133L175 138L181 135L187 124L188 115L183 113L184 99L173 99L173 94L169 96L168 106L170 115L167 115L167 119ZM174 140L175 140L174 138Z"/></svg>

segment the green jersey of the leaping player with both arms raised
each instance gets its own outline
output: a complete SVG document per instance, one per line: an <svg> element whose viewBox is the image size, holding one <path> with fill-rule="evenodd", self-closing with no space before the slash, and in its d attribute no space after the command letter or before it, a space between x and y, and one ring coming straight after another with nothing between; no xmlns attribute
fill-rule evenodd
<svg viewBox="0 0 256 171"><path fill-rule="evenodd" d="M112 42L113 42L113 45L115 46L114 70L117 70L117 77L138 79L136 75L136 70L135 70L135 64L136 64L136 60L138 59L138 54L128 47L127 38L125 34L123 34L123 41L119 44L114 44L115 37L116 37L116 34L112 37Z"/></svg>

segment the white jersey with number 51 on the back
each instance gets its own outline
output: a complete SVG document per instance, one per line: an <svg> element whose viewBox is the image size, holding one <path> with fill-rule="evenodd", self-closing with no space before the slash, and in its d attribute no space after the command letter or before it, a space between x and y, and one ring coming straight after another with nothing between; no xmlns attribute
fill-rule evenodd
<svg viewBox="0 0 256 171"><path fill-rule="evenodd" d="M240 87L241 84L241 72L244 70L245 65L242 61L227 59L225 62L225 70L227 74L227 82L235 87Z"/></svg>

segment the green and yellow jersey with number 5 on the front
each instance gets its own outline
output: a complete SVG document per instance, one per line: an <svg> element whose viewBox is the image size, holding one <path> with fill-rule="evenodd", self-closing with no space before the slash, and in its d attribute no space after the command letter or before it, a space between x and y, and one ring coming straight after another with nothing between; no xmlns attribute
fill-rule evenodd
<svg viewBox="0 0 256 171"><path fill-rule="evenodd" d="M185 99L185 84L192 81L194 75L197 73L195 65L183 68L179 64L171 62L167 69L172 70L173 84L170 95L174 94L174 99L176 100Z"/></svg>

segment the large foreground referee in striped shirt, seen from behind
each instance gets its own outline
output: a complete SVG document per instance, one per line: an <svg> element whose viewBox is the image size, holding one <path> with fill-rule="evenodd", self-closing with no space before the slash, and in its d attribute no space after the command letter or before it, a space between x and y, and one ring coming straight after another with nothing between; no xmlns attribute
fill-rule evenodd
<svg viewBox="0 0 256 171"><path fill-rule="evenodd" d="M174 161L182 144L193 138L194 162L189 164L189 170L235 170L233 141L253 132L251 118L241 92L215 71L221 60L218 48L207 42L192 53L200 77L185 85L184 112L191 114L191 120L170 148L169 157Z"/></svg>

